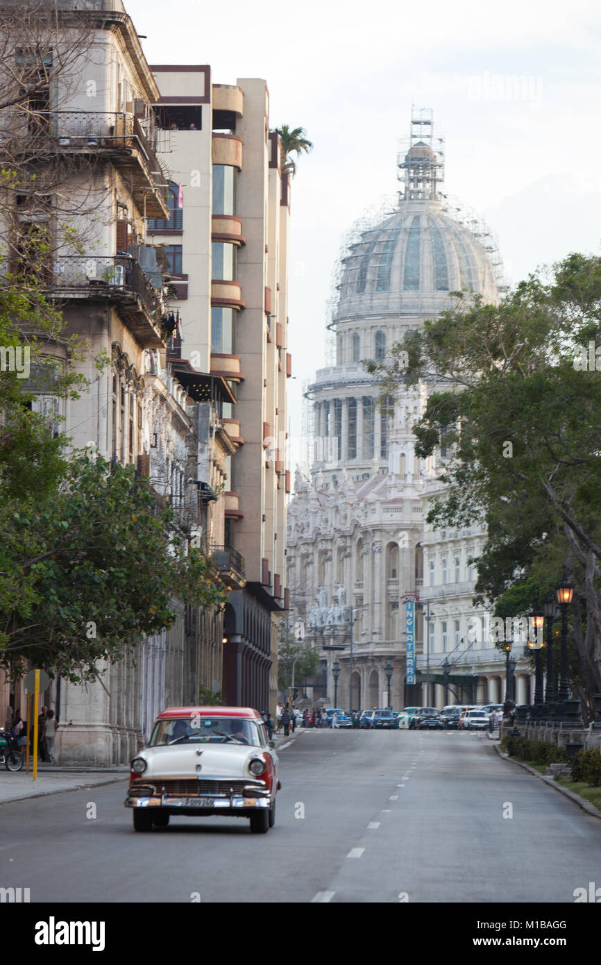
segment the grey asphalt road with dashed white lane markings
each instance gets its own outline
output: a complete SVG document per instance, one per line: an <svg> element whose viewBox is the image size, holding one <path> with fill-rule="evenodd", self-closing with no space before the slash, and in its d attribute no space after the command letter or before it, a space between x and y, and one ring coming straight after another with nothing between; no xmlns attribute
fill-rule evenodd
<svg viewBox="0 0 601 965"><path fill-rule="evenodd" d="M267 835L213 817L135 834L124 783L2 805L0 886L32 901L573 902L601 883L601 821L481 734L304 731L280 760Z"/></svg>

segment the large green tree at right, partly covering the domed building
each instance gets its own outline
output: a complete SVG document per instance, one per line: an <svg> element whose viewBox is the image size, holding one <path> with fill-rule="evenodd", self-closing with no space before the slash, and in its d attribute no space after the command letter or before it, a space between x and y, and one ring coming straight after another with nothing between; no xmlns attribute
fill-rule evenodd
<svg viewBox="0 0 601 965"><path fill-rule="evenodd" d="M498 306L455 293L451 309L368 365L382 395L420 380L430 388L416 453L432 455L444 439L453 455L427 519L486 520L479 599L500 600L531 575L542 598L569 565L588 698L601 690L600 329L601 259L573 254Z"/></svg>

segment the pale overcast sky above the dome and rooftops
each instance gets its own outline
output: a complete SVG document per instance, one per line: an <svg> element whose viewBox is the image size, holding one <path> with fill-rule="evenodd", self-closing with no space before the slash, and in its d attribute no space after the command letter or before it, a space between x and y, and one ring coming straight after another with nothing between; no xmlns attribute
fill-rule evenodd
<svg viewBox="0 0 601 965"><path fill-rule="evenodd" d="M411 105L446 138L445 190L499 237L512 283L570 251L601 252L601 8L571 0L124 0L153 63L264 77L272 127L314 142L292 184L288 381L324 364L341 234L396 190ZM416 17L417 14L417 17Z"/></svg>

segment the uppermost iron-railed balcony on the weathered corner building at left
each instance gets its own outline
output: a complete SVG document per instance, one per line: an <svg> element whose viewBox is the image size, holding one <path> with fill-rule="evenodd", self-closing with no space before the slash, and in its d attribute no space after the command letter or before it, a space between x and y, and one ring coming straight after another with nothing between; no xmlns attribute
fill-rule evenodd
<svg viewBox="0 0 601 965"><path fill-rule="evenodd" d="M59 155L84 154L110 160L123 174L139 211L168 218L166 176L150 144L146 121L125 111L40 111L6 131L3 147L56 163Z"/></svg>

